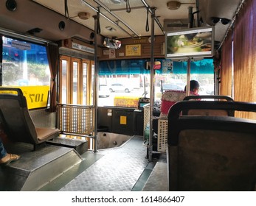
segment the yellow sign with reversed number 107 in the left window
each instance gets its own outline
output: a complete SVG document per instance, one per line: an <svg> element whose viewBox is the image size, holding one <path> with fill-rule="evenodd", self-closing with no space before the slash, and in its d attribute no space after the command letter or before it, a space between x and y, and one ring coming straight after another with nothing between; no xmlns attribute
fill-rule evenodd
<svg viewBox="0 0 256 206"><path fill-rule="evenodd" d="M14 88L14 87L13 87ZM47 106L49 86L21 86L23 95L27 99L28 109L35 109ZM8 93L15 93L13 90Z"/></svg>

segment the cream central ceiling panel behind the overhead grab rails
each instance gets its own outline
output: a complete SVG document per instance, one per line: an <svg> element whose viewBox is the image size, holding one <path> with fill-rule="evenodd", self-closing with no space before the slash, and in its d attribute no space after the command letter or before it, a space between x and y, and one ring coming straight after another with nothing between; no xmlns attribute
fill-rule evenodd
<svg viewBox="0 0 256 206"><path fill-rule="evenodd" d="M65 15L64 0L34 0L38 4L55 10L57 13ZM57 4L56 4L57 2ZM97 15L100 10L100 29L101 34L106 37L128 38L151 35L151 13L147 13L148 8L155 8L155 16L159 19L161 26L156 24L154 27L155 35L164 35L163 25L164 20L169 18L188 18L187 7L194 7L196 10L195 0L180 1L179 10L169 10L167 8L168 0L160 1L143 1L141 0L68 0L67 8L69 11L69 18L83 24L90 29L94 29L93 15ZM91 9L93 7L94 9ZM85 12L90 14L88 20L82 20L78 17L78 13ZM106 18L105 18L106 17ZM110 21L109 21L110 20ZM149 31L146 30L148 22ZM105 29L106 26L111 26L114 29L109 31ZM121 27L121 28L120 28Z"/></svg>

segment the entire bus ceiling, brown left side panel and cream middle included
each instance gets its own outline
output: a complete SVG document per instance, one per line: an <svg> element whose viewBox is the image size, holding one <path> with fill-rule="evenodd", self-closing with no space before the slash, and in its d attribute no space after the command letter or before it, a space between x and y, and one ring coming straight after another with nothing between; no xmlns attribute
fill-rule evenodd
<svg viewBox="0 0 256 206"><path fill-rule="evenodd" d="M175 29L215 26L221 43L243 0L7 0L0 7L0 29L51 41L94 41L94 16L100 13L100 38L141 38ZM152 11L154 8L154 15ZM191 22L192 21L192 22Z"/></svg>

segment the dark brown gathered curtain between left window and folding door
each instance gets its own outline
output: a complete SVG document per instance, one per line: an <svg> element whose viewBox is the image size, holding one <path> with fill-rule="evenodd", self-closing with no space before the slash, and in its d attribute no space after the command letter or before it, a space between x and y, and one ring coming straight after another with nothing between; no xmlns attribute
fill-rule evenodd
<svg viewBox="0 0 256 206"><path fill-rule="evenodd" d="M58 71L58 57L59 50L58 45L48 44L46 46L47 57L49 61L49 70L51 72L51 82L50 82L50 112L56 111L57 106L57 92L56 92L56 75Z"/></svg>

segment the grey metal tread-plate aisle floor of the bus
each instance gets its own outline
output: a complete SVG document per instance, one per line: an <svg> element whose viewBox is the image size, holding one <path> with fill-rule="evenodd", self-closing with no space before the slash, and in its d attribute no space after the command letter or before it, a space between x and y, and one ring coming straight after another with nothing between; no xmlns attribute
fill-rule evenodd
<svg viewBox="0 0 256 206"><path fill-rule="evenodd" d="M167 191L166 154L149 162L142 143L142 136L134 136L118 148L87 151L80 164L39 191Z"/></svg>

